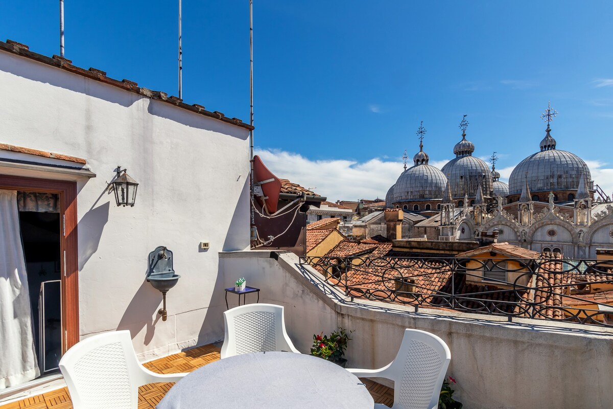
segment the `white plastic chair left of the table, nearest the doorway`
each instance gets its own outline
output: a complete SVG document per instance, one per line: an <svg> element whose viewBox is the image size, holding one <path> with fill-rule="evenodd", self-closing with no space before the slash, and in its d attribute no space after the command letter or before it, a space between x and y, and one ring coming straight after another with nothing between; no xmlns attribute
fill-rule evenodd
<svg viewBox="0 0 613 409"><path fill-rule="evenodd" d="M187 375L145 369L129 331L106 332L75 344L59 361L59 369L75 409L136 409L139 386L177 382Z"/></svg>

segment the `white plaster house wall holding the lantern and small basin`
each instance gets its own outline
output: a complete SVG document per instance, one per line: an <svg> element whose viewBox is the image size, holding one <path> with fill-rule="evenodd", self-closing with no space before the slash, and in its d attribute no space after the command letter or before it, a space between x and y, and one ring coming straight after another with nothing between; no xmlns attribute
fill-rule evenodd
<svg viewBox="0 0 613 409"><path fill-rule="evenodd" d="M97 174L78 181L82 337L129 329L147 357L218 340L218 252L249 246L248 130L7 53L0 90L0 142L84 158ZM118 164L140 183L133 208L105 193ZM181 275L166 322L145 281L159 245Z"/></svg>

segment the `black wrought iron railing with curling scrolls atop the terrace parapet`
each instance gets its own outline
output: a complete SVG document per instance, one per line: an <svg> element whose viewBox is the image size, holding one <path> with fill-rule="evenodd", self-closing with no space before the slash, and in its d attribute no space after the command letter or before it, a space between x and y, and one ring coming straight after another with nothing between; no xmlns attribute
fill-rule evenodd
<svg viewBox="0 0 613 409"><path fill-rule="evenodd" d="M493 255L492 255L493 256ZM613 327L613 260L305 257L346 296ZM611 304L611 305L609 305Z"/></svg>

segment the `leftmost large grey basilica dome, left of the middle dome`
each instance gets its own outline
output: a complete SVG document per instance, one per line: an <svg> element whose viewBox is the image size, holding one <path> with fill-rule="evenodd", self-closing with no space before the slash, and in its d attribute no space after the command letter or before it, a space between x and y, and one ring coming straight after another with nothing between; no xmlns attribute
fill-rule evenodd
<svg viewBox="0 0 613 409"><path fill-rule="evenodd" d="M413 157L415 165L406 169L396 181L394 203L443 198L447 178L443 172L428 164L429 158L423 148L424 145L420 143L419 152Z"/></svg>

